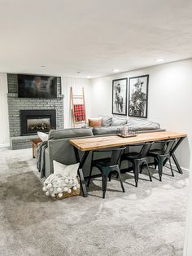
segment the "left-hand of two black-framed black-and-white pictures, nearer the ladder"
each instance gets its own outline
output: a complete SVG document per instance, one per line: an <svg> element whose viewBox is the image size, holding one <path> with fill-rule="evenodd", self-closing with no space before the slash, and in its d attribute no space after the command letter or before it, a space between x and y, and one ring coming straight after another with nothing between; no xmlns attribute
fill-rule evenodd
<svg viewBox="0 0 192 256"><path fill-rule="evenodd" d="M127 78L112 81L112 114L127 115L127 86Z"/></svg>

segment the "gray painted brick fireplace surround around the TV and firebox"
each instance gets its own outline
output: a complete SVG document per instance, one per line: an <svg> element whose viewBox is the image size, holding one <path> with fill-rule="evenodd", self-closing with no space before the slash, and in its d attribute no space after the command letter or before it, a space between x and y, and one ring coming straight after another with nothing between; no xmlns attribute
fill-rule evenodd
<svg viewBox="0 0 192 256"><path fill-rule="evenodd" d="M55 109L56 126L63 129L63 95L61 95L61 78L57 77L57 99L24 99L18 98L18 84L16 74L7 74L8 83L8 112L11 148L31 148L31 136L20 136L20 110L23 109ZM25 138L27 137L27 138ZM37 136L33 136L35 138Z"/></svg>

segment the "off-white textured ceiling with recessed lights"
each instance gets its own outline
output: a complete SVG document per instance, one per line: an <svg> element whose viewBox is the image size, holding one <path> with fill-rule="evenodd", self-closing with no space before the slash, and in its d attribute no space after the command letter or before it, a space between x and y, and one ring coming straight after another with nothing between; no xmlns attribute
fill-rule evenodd
<svg viewBox="0 0 192 256"><path fill-rule="evenodd" d="M191 17L190 0L0 0L0 72L101 77L187 59Z"/></svg>

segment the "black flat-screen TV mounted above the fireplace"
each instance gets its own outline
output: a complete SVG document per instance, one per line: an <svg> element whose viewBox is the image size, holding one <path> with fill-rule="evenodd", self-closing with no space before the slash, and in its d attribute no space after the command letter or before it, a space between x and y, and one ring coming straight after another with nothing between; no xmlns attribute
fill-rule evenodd
<svg viewBox="0 0 192 256"><path fill-rule="evenodd" d="M19 98L57 98L57 77L18 74Z"/></svg>

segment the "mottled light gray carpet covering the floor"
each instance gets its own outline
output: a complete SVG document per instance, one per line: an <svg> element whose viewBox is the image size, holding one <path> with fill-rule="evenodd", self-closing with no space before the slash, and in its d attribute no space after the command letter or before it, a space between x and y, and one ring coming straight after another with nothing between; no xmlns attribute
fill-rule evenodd
<svg viewBox="0 0 192 256"><path fill-rule="evenodd" d="M55 201L41 191L30 149L0 148L0 255L182 255L188 174L153 182L124 174L125 193L115 178L101 198L94 179L89 197Z"/></svg>

